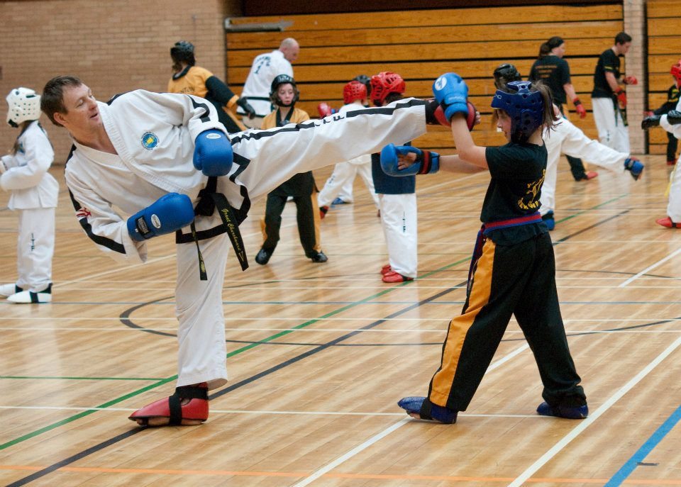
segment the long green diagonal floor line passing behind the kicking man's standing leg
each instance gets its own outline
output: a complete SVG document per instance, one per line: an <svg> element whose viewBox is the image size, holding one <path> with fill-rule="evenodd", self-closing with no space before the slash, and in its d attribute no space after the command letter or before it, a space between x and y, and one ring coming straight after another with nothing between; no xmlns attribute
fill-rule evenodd
<svg viewBox="0 0 681 487"><path fill-rule="evenodd" d="M604 205L607 205L607 204L609 204L609 203L612 203L613 201L617 201L617 200L619 200L619 199L621 199L621 198L624 198L624 196L626 196L626 194L623 194L623 195L621 195L621 196L619 196L619 197L617 197L617 198L612 198L612 199L609 200L609 201L605 201L604 203L600 203L599 205L594 206L594 207L589 208L589 209L599 208L600 206L604 206ZM575 216L581 215L582 213L585 213L586 211L588 211L588 210L580 211L579 213L576 213L575 215L571 215L571 216L569 216L569 217L563 218L563 220L560 220L560 221L569 220L570 218L574 218ZM423 279L424 277L431 276L431 275L433 275L433 274L437 274L438 272L442 272L442 271L444 271L444 270L446 270L446 269L449 269L450 267L454 267L454 266L456 266L456 265L458 265L458 264L463 264L463 262L467 262L467 261L469 261L469 260L470 260L470 257L466 257L465 259L460 259L460 260L458 260L457 262L453 262L452 264L448 264L448 265L446 265L446 266L444 266L444 267L440 267L439 269L436 269L436 270L434 270L434 271L427 272L426 274L423 274L423 276L420 276L419 279ZM296 331L296 330L300 330L301 328L306 328L307 326L312 325L312 324L314 324L314 323L317 323L317 322L320 321L320 320L324 320L324 319L326 319L326 318L330 318L330 317L333 316L333 315L337 315L338 313L342 313L342 312L345 311L345 310L348 310L348 309L350 309L350 308L354 308L355 306L358 306L358 305L360 305L360 304L362 304L362 303L366 303L367 301L371 301L372 299L375 299L375 298L378 298L378 297L380 297L380 296L383 296L384 294L387 294L387 293L389 293L389 292L392 292L392 291L394 291L395 289L399 289L399 288L402 288L402 287L404 287L404 286L408 286L408 285L411 284L412 282L414 282L414 281L406 281L406 282L403 282L402 284L399 284L399 285L397 285L397 286L392 286L392 287L390 287L390 288L388 288L388 289L385 289L384 291L380 291L380 293L374 294L373 296L369 296L369 297L364 298L364 299L362 299L362 300L360 300L360 301L355 301L355 303L350 303L350 304L348 304L348 305L346 305L346 306L343 306L342 308L338 308L337 310L331 311L331 313L326 313L326 315L322 315L320 318L315 318L314 320L309 320L309 321L306 321L305 323L301 323L300 325L294 326L294 328L292 328L291 330L285 330L285 331L283 331L283 332L279 332L279 333L277 333L277 334L275 334L275 335L272 335L272 336L270 336L270 337L265 338L264 340L260 340L259 342L255 342L255 343L252 343L252 344L250 344L250 345L246 345L245 347L241 347L240 349L236 349L234 352L229 352L229 353L227 354L226 358L234 357L235 355L238 355L238 354L240 354L240 353L243 353L243 352L245 352L245 351L247 351L247 350L249 350L249 349L258 347L258 345L262 345L262 344L265 344L265 343L267 343L267 342L271 342L272 340L276 340L276 339L279 338L279 337L283 337L283 336L285 336L285 335L289 335L289 333L292 333L292 332L294 332L294 331ZM92 413L96 413L97 411L99 411L99 410L101 410L101 409L109 408L109 406L111 406L111 405L114 405L114 404L117 404L117 403L121 403L122 401L126 401L126 400L129 399L129 398L132 398L132 397L134 397L134 396L138 396L138 394L140 394L140 393L143 393L143 392L146 392L146 391L150 391L150 390L153 389L153 388L157 388L158 386L162 386L163 384L167 384L167 383L170 382L170 381L175 381L176 379L177 379L177 375L168 377L167 379L162 379L162 380L160 380L160 381L157 381L155 384L150 384L149 386L145 386L145 387L143 387L143 388L141 388L141 389L138 389L137 391L133 391L133 392L131 392L131 393L128 393L128 394L126 394L125 396L121 396L121 397L119 397L119 398L112 399L111 401L109 401L109 402L107 402L107 403L104 403L104 404L101 404L101 405L99 405L99 406L96 406L97 409L90 409L90 410L87 410L87 411L83 411L82 413L77 413L76 415L70 416L69 418L65 418L64 420L60 420L60 421L54 422L54 423L52 423L51 425L45 426L45 427L43 427L43 428L40 428L40 430L35 430L34 432L31 432L31 433L28 433L28 434L26 434L26 435L23 435L22 437L18 437L18 438L14 439L14 440L11 440L11 441L9 441L9 442L0 444L0 450L9 448L9 447L11 447L11 446L13 446L13 445L15 445L15 444L21 443L21 442L23 442L23 441L30 440L31 438L36 437L36 436L38 436L38 435L41 435L41 434L44 433L44 432L48 432L48 431L50 431L50 430L54 430L56 427L60 427L60 426L62 426L62 425L66 425L66 424L68 424L68 423L70 423L70 422L72 422L72 421L78 420L78 419L80 419L80 418L84 418L84 416L91 415ZM141 379L140 379L140 380L141 380ZM155 379L152 379L152 380L155 380Z"/></svg>

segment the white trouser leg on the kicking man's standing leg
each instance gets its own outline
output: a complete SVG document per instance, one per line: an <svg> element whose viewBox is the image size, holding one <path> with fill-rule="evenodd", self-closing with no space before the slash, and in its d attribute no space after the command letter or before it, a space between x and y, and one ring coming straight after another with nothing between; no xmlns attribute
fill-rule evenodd
<svg viewBox="0 0 681 487"><path fill-rule="evenodd" d="M196 230L220 223L212 216L196 220ZM178 244L175 312L177 329L177 386L208 382L216 388L227 382L227 347L222 288L231 243L226 233L199 240L207 281L199 280L199 258L194 242Z"/></svg>

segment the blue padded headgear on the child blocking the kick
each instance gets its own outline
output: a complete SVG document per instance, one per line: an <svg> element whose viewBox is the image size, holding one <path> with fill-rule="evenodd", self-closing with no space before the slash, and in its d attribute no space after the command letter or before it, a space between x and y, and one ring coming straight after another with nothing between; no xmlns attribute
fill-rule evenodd
<svg viewBox="0 0 681 487"><path fill-rule="evenodd" d="M526 142L539 128L544 116L544 101L539 91L530 91L531 82L510 82L506 93L500 89L492 98L492 108L503 110L511 117L511 140Z"/></svg>

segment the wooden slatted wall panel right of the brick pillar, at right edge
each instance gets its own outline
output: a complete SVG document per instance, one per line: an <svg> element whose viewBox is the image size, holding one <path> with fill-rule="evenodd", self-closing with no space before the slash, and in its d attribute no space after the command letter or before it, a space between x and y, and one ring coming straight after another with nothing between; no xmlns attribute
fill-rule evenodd
<svg viewBox="0 0 681 487"><path fill-rule="evenodd" d="M673 83L670 67L681 58L681 2L648 0L648 107L667 101ZM648 130L650 154L665 154L667 135L661 128Z"/></svg>

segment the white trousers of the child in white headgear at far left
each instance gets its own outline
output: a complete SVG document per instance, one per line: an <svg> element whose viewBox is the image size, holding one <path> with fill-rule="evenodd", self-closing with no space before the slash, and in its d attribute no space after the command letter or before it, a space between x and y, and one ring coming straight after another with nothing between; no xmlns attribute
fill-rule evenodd
<svg viewBox="0 0 681 487"><path fill-rule="evenodd" d="M55 253L55 208L28 208L19 212L16 248L16 285L24 291L45 291L52 282Z"/></svg>

